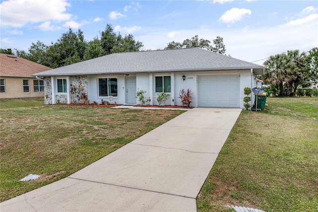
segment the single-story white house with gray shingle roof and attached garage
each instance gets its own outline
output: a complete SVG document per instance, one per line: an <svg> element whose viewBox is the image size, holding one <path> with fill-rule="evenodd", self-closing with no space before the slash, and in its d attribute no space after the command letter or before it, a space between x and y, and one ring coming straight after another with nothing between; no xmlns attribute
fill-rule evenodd
<svg viewBox="0 0 318 212"><path fill-rule="evenodd" d="M33 76L44 79L45 104L70 104L84 93L90 103L134 105L137 91L144 90L158 105L164 89L170 95L165 105L181 105L179 91L190 89L192 106L243 108L243 88L254 88L263 72L260 65L186 48L115 53Z"/></svg>

